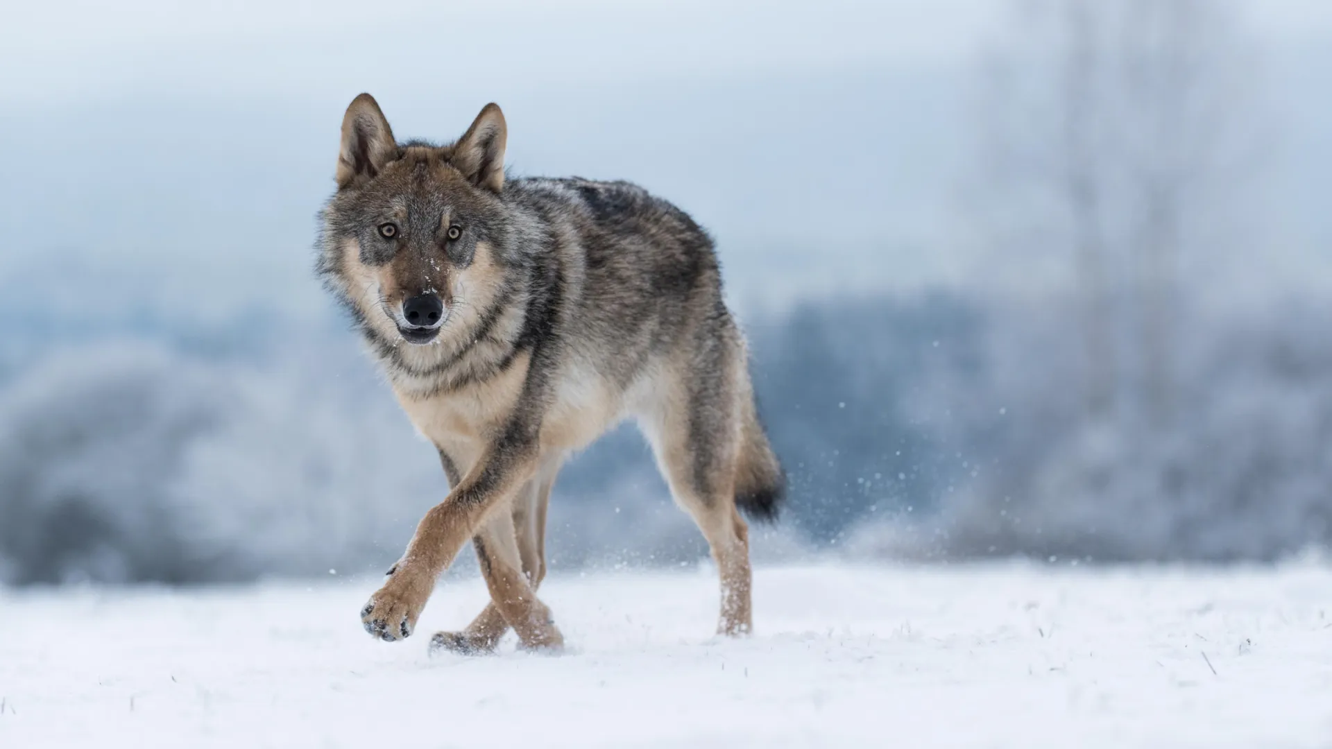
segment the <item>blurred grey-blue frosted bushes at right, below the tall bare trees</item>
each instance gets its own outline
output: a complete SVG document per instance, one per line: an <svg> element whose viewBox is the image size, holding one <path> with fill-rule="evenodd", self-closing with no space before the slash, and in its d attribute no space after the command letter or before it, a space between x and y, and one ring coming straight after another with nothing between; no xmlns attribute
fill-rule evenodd
<svg viewBox="0 0 1332 749"><path fill-rule="evenodd" d="M986 374L939 396L963 416L950 441L972 477L938 513L867 528L858 548L1264 560L1332 542L1327 305L1191 320L1171 413L1124 406L1100 420L1079 412L1066 365L1076 341L1011 312L992 321Z"/></svg>

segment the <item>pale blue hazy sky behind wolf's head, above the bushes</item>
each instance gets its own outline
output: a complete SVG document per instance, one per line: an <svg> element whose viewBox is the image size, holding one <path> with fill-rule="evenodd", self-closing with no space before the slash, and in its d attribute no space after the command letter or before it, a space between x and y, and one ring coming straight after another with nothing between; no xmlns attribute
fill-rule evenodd
<svg viewBox="0 0 1332 749"><path fill-rule="evenodd" d="M0 137L20 148L0 172L0 241L13 248L0 283L37 289L33 279L91 267L124 279L107 293L137 300L151 287L161 304L192 299L213 315L254 300L316 308L313 213L360 91L400 136L438 140L500 101L515 171L630 179L675 200L718 236L746 297L950 283L970 272L955 252L967 87L1008 7L11 5ZM1332 48L1332 3L1243 7L1303 144L1281 193L1291 241L1329 239L1320 81L1332 67L1303 57Z"/></svg>

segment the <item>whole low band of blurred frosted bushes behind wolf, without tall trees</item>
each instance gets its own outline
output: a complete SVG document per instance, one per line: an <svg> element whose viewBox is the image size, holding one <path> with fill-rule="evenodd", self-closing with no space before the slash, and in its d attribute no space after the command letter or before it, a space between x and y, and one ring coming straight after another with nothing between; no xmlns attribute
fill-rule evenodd
<svg viewBox="0 0 1332 749"><path fill-rule="evenodd" d="M1168 417L1134 408L1127 378L1095 420L1058 309L859 299L751 325L791 477L755 554L1231 560L1332 541L1332 309L1195 313ZM382 570L448 486L350 337L308 347L25 363L0 384L0 582ZM705 556L655 473L630 429L571 460L551 568Z"/></svg>

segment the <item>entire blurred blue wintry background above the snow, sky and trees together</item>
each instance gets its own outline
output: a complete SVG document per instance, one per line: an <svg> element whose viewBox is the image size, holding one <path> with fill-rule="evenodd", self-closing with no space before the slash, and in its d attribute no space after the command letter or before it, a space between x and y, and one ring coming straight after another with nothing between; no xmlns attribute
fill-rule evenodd
<svg viewBox="0 0 1332 749"><path fill-rule="evenodd" d="M313 279L342 111L718 240L791 481L766 560L1332 540L1321 0L17 3L0 582L381 572L448 486ZM554 569L706 554L634 429ZM470 558L464 552L462 560Z"/></svg>

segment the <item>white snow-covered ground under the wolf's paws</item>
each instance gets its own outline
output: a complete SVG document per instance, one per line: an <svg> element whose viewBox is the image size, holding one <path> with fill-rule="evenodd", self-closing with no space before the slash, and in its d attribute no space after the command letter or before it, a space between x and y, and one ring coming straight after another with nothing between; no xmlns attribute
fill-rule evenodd
<svg viewBox="0 0 1332 749"><path fill-rule="evenodd" d="M762 568L554 576L559 657L429 657L441 584L372 641L376 580L0 592L0 746L1332 746L1332 568Z"/></svg>

